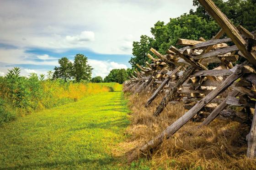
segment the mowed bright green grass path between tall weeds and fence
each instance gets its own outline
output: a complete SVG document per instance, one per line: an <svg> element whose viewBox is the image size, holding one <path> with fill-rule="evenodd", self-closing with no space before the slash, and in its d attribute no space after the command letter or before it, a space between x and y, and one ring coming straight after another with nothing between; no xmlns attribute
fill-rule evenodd
<svg viewBox="0 0 256 170"><path fill-rule="evenodd" d="M121 169L111 154L129 124L122 85L0 127L0 169Z"/></svg>

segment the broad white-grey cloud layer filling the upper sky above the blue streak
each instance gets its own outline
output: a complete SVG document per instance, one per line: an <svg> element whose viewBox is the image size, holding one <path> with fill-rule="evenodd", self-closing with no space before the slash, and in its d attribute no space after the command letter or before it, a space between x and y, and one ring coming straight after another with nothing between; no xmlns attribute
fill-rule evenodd
<svg viewBox="0 0 256 170"><path fill-rule="evenodd" d="M85 48L131 54L127 42L151 36L155 22L166 23L191 8L192 0L2 0L0 41L55 52Z"/></svg>

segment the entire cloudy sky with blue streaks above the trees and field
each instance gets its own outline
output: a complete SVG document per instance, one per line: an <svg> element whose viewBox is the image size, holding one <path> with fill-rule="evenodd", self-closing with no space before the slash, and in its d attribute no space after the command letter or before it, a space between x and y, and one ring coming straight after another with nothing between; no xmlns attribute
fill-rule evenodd
<svg viewBox="0 0 256 170"><path fill-rule="evenodd" d="M132 43L157 21L188 12L192 0L0 0L0 76L46 73L58 59L82 53L105 77L128 68Z"/></svg>

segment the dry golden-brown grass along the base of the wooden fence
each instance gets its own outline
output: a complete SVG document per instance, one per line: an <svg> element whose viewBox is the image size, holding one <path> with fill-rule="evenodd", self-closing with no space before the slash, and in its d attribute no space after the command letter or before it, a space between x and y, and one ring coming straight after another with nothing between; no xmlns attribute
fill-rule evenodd
<svg viewBox="0 0 256 170"><path fill-rule="evenodd" d="M139 146L160 134L185 113L183 103L177 103L169 104L159 117L153 117L152 113L162 95L148 108L144 108L144 103L150 94L127 96L133 114L132 124L126 133L131 137L122 143L122 147L128 161L132 161L133 150L137 150L135 153L139 155ZM250 127L218 119L208 126L197 128L199 124L189 121L170 139L165 139L153 153L142 157L148 158L152 169L256 169L256 161L245 157L246 135Z"/></svg>

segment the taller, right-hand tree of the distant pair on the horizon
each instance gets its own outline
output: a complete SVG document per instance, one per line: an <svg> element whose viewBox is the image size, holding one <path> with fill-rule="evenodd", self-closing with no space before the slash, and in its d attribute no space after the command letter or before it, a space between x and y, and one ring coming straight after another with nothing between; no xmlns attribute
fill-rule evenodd
<svg viewBox="0 0 256 170"><path fill-rule="evenodd" d="M88 58L83 54L76 54L72 69L72 75L75 78L76 82L80 82L81 80L90 81L91 80L91 72L92 67L87 63Z"/></svg>

